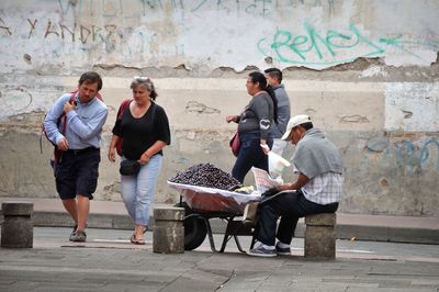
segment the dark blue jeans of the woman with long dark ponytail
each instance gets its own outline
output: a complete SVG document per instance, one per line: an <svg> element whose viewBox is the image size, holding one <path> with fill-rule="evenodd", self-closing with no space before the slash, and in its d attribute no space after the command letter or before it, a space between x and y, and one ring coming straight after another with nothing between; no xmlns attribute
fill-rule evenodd
<svg viewBox="0 0 439 292"><path fill-rule="evenodd" d="M232 177L244 182L244 178L251 167L263 169L268 172L268 156L260 146L260 137L257 135L240 134L240 148L232 169ZM267 145L271 148L273 141L268 139Z"/></svg>

